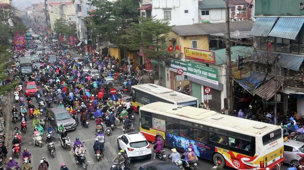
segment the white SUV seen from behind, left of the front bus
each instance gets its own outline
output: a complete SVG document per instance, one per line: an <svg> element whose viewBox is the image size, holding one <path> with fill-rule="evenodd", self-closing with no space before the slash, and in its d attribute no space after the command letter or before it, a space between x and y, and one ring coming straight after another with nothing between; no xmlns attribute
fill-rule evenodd
<svg viewBox="0 0 304 170"><path fill-rule="evenodd" d="M124 150L131 159L151 158L151 146L140 132L121 135L117 138L119 150Z"/></svg>

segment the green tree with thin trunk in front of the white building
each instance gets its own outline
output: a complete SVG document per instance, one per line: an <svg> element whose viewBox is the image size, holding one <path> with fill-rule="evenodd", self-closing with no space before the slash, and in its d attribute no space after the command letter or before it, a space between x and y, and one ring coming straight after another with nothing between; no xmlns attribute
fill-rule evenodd
<svg viewBox="0 0 304 170"><path fill-rule="evenodd" d="M171 28L168 21L154 17L140 17L139 23L132 23L131 28L127 29L126 34L122 36L126 40L124 46L132 50L141 48L148 58L163 61L169 54L166 39ZM158 72L160 79L160 67L158 67Z"/></svg>

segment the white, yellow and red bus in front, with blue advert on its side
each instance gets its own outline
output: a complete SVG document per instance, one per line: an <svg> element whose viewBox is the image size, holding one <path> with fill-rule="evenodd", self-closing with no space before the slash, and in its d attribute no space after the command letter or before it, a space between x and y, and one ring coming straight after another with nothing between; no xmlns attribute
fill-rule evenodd
<svg viewBox="0 0 304 170"><path fill-rule="evenodd" d="M154 102L140 107L140 132L180 151L192 143L202 158L236 169L273 169L284 160L279 126L186 105Z"/></svg>

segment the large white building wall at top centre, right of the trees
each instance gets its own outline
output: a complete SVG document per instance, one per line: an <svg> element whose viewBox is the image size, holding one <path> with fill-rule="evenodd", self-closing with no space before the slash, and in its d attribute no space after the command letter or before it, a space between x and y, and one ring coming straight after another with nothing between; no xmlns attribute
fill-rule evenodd
<svg viewBox="0 0 304 170"><path fill-rule="evenodd" d="M164 19L164 11L171 11L170 25L199 23L198 0L153 0L152 5L152 16L157 19ZM184 10L188 10L188 13L184 13Z"/></svg>

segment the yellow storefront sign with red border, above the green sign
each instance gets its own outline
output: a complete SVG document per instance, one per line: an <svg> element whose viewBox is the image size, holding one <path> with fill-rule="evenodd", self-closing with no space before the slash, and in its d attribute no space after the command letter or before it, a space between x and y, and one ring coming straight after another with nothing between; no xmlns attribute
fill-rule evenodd
<svg viewBox="0 0 304 170"><path fill-rule="evenodd" d="M185 56L187 59L192 59L200 62L215 64L215 52L202 49L184 47Z"/></svg>

